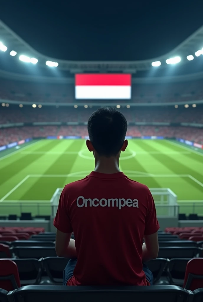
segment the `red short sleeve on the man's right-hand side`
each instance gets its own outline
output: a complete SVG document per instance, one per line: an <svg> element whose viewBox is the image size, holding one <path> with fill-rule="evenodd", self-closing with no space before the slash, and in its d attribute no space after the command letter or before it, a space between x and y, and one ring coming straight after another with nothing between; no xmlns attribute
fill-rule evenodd
<svg viewBox="0 0 203 302"><path fill-rule="evenodd" d="M145 221L144 235L152 235L159 230L159 222L156 218L156 208L150 190L148 189L148 211Z"/></svg>

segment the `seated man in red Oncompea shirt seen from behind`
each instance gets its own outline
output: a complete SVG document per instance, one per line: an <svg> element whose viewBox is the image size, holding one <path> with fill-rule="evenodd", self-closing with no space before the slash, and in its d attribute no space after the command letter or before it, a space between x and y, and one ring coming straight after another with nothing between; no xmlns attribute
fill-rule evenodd
<svg viewBox="0 0 203 302"><path fill-rule="evenodd" d="M64 285L152 285L143 262L158 255L159 223L147 186L119 169L126 131L114 108L99 108L88 120L95 170L65 186L54 220L56 254L71 258Z"/></svg>

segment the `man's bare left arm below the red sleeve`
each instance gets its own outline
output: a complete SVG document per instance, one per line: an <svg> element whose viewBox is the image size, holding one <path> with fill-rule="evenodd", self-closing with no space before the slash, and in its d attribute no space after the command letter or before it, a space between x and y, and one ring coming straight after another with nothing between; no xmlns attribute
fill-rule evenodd
<svg viewBox="0 0 203 302"><path fill-rule="evenodd" d="M71 239L71 233L63 233L56 230L56 255L65 258L77 258L75 240Z"/></svg>

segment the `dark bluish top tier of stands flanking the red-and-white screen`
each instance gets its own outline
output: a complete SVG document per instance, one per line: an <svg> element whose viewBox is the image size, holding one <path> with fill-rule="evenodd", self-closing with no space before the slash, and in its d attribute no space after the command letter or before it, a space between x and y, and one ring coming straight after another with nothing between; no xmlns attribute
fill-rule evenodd
<svg viewBox="0 0 203 302"><path fill-rule="evenodd" d="M75 100L74 84L23 82L8 79L0 81L0 101L25 104L62 103L79 104ZM161 84L133 84L132 99L128 103L180 103L203 99L203 79L189 82ZM97 101L98 102L98 101ZM112 102L112 101L111 101ZM114 100L113 102L118 102ZM85 100L85 104L90 103ZM121 104L124 101L120 101ZM127 103L126 103L127 104Z"/></svg>

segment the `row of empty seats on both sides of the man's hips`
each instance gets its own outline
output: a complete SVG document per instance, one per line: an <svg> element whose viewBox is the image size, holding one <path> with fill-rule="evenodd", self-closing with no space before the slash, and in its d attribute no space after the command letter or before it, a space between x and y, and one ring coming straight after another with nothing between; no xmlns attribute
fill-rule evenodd
<svg viewBox="0 0 203 302"><path fill-rule="evenodd" d="M17 276L15 278L17 278L17 283L21 284L21 286L28 284L62 285L63 270L66 267L68 260L69 259L61 257L47 257L41 258L40 260L17 258L0 259L0 276L2 274L4 274L4 276L8 276L7 284L2 284L2 280L0 279L0 288L3 286L6 290L16 288L13 287L12 283L8 283L8 280L11 282L12 269L15 271L15 274L13 275L17 276L19 274L19 277ZM2 265L1 263L4 261L7 261L7 263ZM10 262L12 263L11 266L9 266ZM187 288L192 288L192 290L196 288L195 286L197 282L199 282L198 286L203 286L202 258L194 258L192 260L179 258L169 260L157 258L147 262L147 265L152 271L154 285L170 284L183 286L183 284L185 284ZM195 283L190 278L191 273L192 278L195 278ZM199 279L195 275L198 275ZM187 281L190 283L187 283Z"/></svg>

